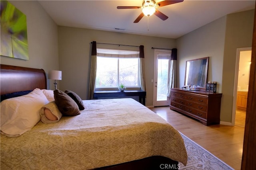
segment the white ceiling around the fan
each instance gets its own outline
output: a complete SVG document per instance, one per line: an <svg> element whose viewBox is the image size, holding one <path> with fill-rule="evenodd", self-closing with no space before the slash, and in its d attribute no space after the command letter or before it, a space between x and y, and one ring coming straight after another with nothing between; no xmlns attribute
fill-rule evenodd
<svg viewBox="0 0 256 170"><path fill-rule="evenodd" d="M162 0L156 0L160 2ZM254 0L184 0L158 10L169 18L153 15L133 21L140 9L117 6L142 6L143 0L42 0L39 3L57 25L116 31L155 37L178 38L222 16L251 10ZM116 30L124 29L124 30ZM149 29L149 30L148 30Z"/></svg>

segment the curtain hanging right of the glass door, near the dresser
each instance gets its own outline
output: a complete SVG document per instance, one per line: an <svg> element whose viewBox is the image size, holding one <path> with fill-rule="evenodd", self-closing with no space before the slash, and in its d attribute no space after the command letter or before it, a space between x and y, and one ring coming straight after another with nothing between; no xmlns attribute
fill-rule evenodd
<svg viewBox="0 0 256 170"><path fill-rule="evenodd" d="M171 96L171 88L176 88L177 86L177 75L176 75L176 67L177 67L177 49L172 49L171 59L169 61L170 70L169 70L169 80L167 83L168 93L167 96Z"/></svg>

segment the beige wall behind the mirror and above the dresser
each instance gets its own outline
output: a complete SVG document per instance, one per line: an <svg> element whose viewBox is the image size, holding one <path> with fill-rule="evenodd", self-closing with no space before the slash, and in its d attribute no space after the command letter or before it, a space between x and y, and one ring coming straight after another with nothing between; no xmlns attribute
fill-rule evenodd
<svg viewBox="0 0 256 170"><path fill-rule="evenodd" d="M178 87L184 85L187 60L209 57L208 80L217 81L221 92L225 28L224 16L177 39Z"/></svg>

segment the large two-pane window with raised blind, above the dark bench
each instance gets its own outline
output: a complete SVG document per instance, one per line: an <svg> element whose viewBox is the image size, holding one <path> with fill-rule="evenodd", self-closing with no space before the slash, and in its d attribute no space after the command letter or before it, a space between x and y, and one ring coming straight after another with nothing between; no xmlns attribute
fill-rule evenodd
<svg viewBox="0 0 256 170"><path fill-rule="evenodd" d="M97 49L96 88L140 87L139 51Z"/></svg>

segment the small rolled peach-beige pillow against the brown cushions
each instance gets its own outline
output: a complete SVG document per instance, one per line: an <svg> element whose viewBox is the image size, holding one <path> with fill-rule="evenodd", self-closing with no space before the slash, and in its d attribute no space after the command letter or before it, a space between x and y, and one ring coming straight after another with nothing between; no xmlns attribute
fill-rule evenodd
<svg viewBox="0 0 256 170"><path fill-rule="evenodd" d="M40 109L41 121L43 123L57 123L62 117L56 103L50 102Z"/></svg>

